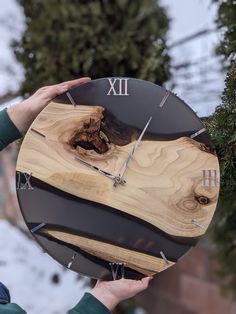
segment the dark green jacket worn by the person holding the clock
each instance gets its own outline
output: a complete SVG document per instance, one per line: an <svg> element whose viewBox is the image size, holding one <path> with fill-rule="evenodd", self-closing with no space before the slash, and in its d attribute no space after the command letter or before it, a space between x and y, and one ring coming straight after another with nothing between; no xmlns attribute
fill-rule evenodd
<svg viewBox="0 0 236 314"><path fill-rule="evenodd" d="M0 151L22 135L8 116L6 109L0 111ZM0 278L1 280L1 278ZM24 314L15 303L0 304L0 314ZM85 293L80 302L68 314L111 314L111 312L92 294Z"/></svg>

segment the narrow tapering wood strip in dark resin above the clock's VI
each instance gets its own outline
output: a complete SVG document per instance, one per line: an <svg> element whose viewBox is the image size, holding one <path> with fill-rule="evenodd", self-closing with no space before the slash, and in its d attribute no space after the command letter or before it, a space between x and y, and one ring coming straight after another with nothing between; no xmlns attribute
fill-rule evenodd
<svg viewBox="0 0 236 314"><path fill-rule="evenodd" d="M175 264L171 261L164 261L162 258L62 231L44 228L41 234L49 234L60 241L75 245L81 250L108 262L124 263L126 267L132 268L146 276L155 275Z"/></svg>

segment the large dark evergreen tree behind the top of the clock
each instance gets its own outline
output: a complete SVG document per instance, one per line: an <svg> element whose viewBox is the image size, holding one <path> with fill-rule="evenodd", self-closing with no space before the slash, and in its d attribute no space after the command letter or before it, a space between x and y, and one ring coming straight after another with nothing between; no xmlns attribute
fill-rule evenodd
<svg viewBox="0 0 236 314"><path fill-rule="evenodd" d="M169 78L165 10L157 0L18 0L26 31L13 47L23 95L81 76Z"/></svg>

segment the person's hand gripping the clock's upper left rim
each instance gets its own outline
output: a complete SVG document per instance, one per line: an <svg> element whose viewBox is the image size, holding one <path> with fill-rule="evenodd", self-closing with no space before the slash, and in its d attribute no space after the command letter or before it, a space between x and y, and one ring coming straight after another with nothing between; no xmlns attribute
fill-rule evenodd
<svg viewBox="0 0 236 314"><path fill-rule="evenodd" d="M90 77L83 77L73 81L42 87L31 97L8 108L8 115L20 133L24 134L40 111L42 111L53 98L75 86L87 83L90 80Z"/></svg>

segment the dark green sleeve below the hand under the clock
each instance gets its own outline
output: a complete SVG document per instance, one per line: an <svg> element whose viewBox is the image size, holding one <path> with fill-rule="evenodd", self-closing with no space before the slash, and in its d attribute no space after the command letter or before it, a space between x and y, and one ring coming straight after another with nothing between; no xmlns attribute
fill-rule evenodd
<svg viewBox="0 0 236 314"><path fill-rule="evenodd" d="M111 312L91 293L86 292L80 302L68 314L111 314Z"/></svg>

